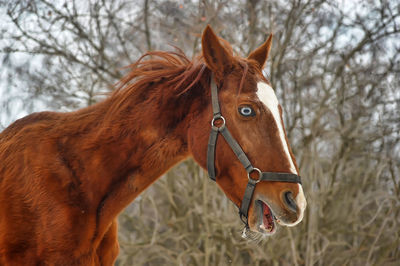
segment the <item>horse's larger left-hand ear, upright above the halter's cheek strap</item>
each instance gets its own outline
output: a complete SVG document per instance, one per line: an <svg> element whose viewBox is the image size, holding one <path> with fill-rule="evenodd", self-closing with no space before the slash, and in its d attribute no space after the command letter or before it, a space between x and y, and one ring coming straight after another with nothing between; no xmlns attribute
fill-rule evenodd
<svg viewBox="0 0 400 266"><path fill-rule="evenodd" d="M217 78L221 79L225 70L232 66L233 58L209 25L203 31L201 45L206 65Z"/></svg>

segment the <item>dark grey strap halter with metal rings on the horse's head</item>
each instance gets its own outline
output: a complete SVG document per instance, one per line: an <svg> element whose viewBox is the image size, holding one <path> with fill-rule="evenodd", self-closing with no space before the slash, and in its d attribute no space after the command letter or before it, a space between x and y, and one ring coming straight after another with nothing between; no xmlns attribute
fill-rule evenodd
<svg viewBox="0 0 400 266"><path fill-rule="evenodd" d="M210 138L208 140L208 149L207 149L207 170L208 175L213 181L216 181L215 176L215 147L217 144L218 133L221 133L225 138L225 141L231 147L232 151L235 153L236 157L242 163L247 172L248 183L246 186L246 190L244 192L242 204L239 208L239 216L242 222L246 225L245 229L249 228L248 224L248 212L249 206L251 202L251 198L254 193L254 189L256 184L260 181L277 181L277 182L291 182L291 183L299 183L301 184L300 176L291 173L280 173L280 172L261 172L260 169L253 167L246 154L243 152L239 143L232 137L228 128L225 126L225 118L221 114L221 110L218 103L218 88L215 84L214 77L211 76L211 103L213 109L213 118L211 120L211 132ZM218 120L222 120L222 124L217 126L215 122ZM250 174L253 172L258 173L258 178L253 179L250 177Z"/></svg>

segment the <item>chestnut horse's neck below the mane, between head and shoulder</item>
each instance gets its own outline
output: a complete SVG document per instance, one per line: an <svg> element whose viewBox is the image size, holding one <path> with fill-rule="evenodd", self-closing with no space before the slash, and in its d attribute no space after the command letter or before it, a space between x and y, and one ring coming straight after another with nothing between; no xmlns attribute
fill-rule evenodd
<svg viewBox="0 0 400 266"><path fill-rule="evenodd" d="M131 98L114 95L69 114L61 140L82 190L97 213L101 234L135 197L188 155L190 122L204 108L202 86L182 96L149 90ZM203 95L202 95L203 94ZM63 133L65 134L65 132Z"/></svg>

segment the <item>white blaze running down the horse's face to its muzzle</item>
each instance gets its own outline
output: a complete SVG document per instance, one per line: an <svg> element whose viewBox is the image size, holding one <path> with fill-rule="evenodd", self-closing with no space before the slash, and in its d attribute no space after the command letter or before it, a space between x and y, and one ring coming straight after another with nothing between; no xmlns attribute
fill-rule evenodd
<svg viewBox="0 0 400 266"><path fill-rule="evenodd" d="M290 156L289 153L289 147L285 138L285 132L283 131L283 125L282 125L282 120L281 120L281 116L279 113L279 103L278 103L278 98L276 98L275 92L274 90L271 88L271 86L269 86L267 83L265 82L258 82L257 83L257 96L260 99L260 101L265 105L265 107L268 108L268 110L271 111L272 115L274 116L276 125L278 127L279 130L279 136L281 138L281 142L283 145L283 149L286 153L286 156L289 160L289 164L290 164L290 171L293 174L298 175L296 167L294 166L292 157ZM301 220L303 219L304 216L304 210L306 208L307 205L307 201L304 197L304 192L303 192L303 187L300 184L297 184L299 186L299 193L296 196L296 203L297 206L300 209L300 215L299 218L297 219L297 221L293 224L285 224L287 226L295 226L296 224L300 223ZM281 222L282 223L282 222ZM284 223L283 223L284 224Z"/></svg>

